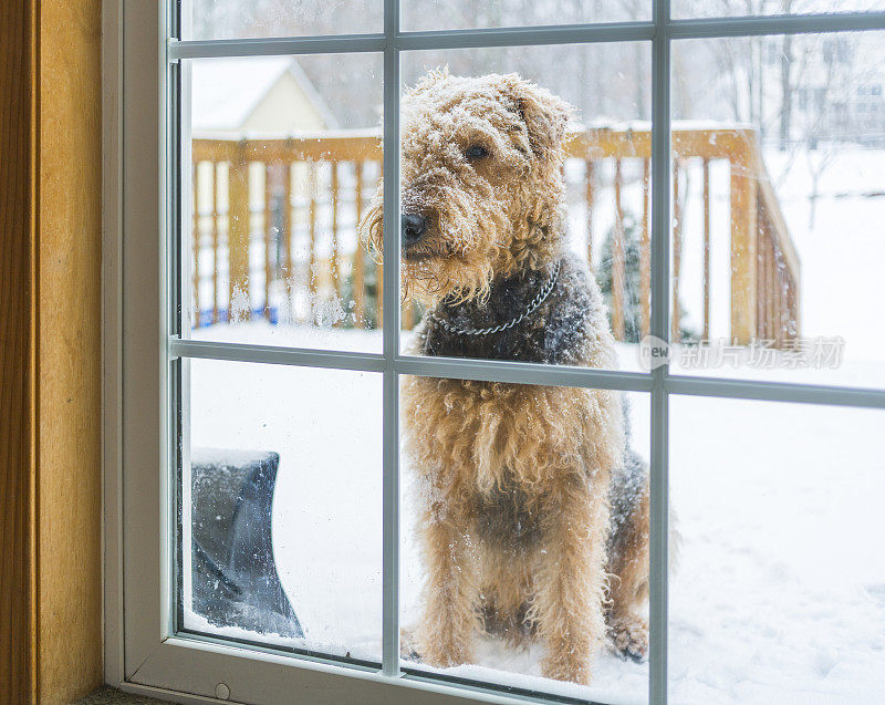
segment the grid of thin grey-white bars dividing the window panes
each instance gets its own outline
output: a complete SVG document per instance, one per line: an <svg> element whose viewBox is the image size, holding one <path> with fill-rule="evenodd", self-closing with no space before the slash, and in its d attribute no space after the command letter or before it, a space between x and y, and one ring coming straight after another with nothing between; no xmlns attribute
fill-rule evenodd
<svg viewBox="0 0 885 705"><path fill-rule="evenodd" d="M173 2L175 4L175 2ZM179 41L166 44L169 76L181 59L263 56L274 54L378 52L384 55L384 231L399 231L399 92L400 53L428 49L519 46L532 44L581 44L644 41L652 44L652 334L669 340L669 236L670 236L670 46L674 40L750 37L760 34L845 32L885 29L885 12L842 14L769 15L671 20L670 0L654 0L650 21L562 27L493 28L404 32L399 28L400 0L384 0L384 29L377 34L269 38L243 40ZM169 14L174 14L170 12ZM174 35L174 34L170 34ZM168 80L168 77L167 77ZM183 91L181 110L187 110ZM185 147L187 124L167 112L170 144ZM393 148L395 145L397 148ZM186 147L185 147L186 148ZM175 149L169 155L176 155ZM177 179L181 163L169 159L168 186L188 188L189 179ZM171 190L175 190L173 188ZM187 209L191 198L178 198ZM170 206L175 200L170 201ZM177 224L190 222L187 214ZM177 225L171 224L171 225ZM170 228L178 237L178 228ZM178 242L179 247L181 242ZM168 247L175 252L177 247ZM399 262L399 238L384 239L384 260ZM178 262L167 263L171 311L180 311L188 292L173 286L181 282ZM398 269L398 267L396 268ZM392 268L392 271L394 269ZM180 284L188 287L189 278ZM885 390L758 382L671 375L663 365L650 373L615 372L552 365L410 357L400 354L399 278L386 277L383 286L385 325L383 352L319 351L240 343L185 340L171 328L168 333L169 365L179 359L214 359L239 362L325 367L383 374L383 656L381 673L391 678L427 677L404 674L399 664L399 375L452 377L520 384L585 386L650 393L650 668L649 702L667 702L667 504L668 504L668 397L670 394L759 401L885 408ZM171 317L174 320L175 317ZM167 365L167 369L170 366ZM186 390L179 390L186 395ZM187 398L177 408L187 412ZM187 423L187 419L184 419ZM174 426L174 424L173 424ZM169 454L174 456L174 454ZM173 533L174 536L174 533ZM490 686L494 687L494 686ZM544 702L542 693L533 696Z"/></svg>

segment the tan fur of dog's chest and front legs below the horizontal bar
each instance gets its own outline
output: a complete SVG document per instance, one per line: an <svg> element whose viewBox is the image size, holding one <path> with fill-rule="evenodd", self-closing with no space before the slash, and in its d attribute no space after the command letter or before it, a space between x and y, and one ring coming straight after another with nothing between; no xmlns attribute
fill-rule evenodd
<svg viewBox="0 0 885 705"><path fill-rule="evenodd" d="M622 416L618 396L408 377L403 408L428 499L421 538L437 588L428 591L420 655L469 662L485 594L511 629L525 611L549 646L546 675L586 681L605 633L605 490L624 442L610 422ZM501 526L489 522L489 504ZM512 531L519 522L523 536Z"/></svg>

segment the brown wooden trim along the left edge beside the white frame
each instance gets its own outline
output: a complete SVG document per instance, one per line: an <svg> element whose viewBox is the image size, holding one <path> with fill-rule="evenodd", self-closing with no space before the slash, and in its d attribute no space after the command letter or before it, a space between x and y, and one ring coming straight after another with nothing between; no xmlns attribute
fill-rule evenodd
<svg viewBox="0 0 885 705"><path fill-rule="evenodd" d="M101 17L0 4L0 703L102 681Z"/></svg>

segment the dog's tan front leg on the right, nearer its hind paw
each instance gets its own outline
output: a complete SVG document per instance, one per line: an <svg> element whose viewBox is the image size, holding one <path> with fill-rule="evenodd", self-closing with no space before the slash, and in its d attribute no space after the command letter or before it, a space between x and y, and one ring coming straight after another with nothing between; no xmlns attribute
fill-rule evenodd
<svg viewBox="0 0 885 705"><path fill-rule="evenodd" d="M587 683L605 639L607 507L581 480L566 483L548 507L530 616L546 645L549 678Z"/></svg>

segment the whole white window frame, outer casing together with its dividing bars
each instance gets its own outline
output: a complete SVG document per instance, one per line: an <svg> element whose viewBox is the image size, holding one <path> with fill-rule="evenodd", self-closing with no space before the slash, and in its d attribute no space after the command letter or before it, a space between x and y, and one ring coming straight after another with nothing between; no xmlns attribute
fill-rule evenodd
<svg viewBox="0 0 885 705"><path fill-rule="evenodd" d="M669 335L670 87L674 40L885 29L885 12L671 20L669 0L654 0L652 19L608 24L404 32L399 4L384 0L377 34L256 40L166 40L171 2L105 2L104 52L104 448L105 676L133 693L207 702L225 683L233 699L262 703L512 703L525 696L403 673L398 661L399 435L402 374L531 384L593 386L650 395L652 590L649 702L667 701L668 398L671 394L885 408L885 390L832 387L556 367L519 362L409 357L399 352L399 281L384 280L382 354L181 340L169 302L180 280L174 113L168 81L180 59L268 54L378 52L384 56L384 228L398 231L399 52L501 45L645 41L653 50L652 333ZM184 141L183 141L184 142ZM187 186L185 186L187 188ZM181 197L181 194L178 194ZM178 203L188 204L189 198ZM185 206L186 208L187 206ZM386 238L385 260L398 261L399 239ZM185 298L184 300L187 300ZM208 357L383 374L383 661L381 668L244 649L174 632L170 605L175 552L170 370ZM543 696L530 697L545 702Z"/></svg>

